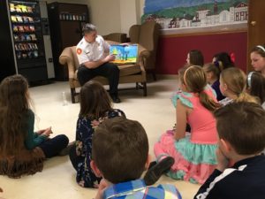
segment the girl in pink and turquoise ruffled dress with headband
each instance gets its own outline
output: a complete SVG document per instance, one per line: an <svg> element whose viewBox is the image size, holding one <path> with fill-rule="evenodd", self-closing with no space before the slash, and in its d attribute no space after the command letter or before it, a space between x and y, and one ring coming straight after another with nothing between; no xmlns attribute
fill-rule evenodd
<svg viewBox="0 0 265 199"><path fill-rule="evenodd" d="M171 99L177 124L155 143L155 157L157 165L163 159L174 158L167 171L171 178L203 183L216 167L217 132L212 112L220 105L200 66L184 67L178 74L181 91ZM186 133L186 123L191 126L191 133Z"/></svg>

